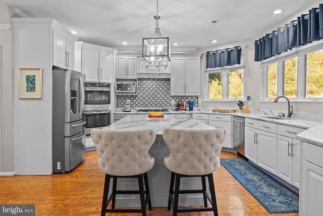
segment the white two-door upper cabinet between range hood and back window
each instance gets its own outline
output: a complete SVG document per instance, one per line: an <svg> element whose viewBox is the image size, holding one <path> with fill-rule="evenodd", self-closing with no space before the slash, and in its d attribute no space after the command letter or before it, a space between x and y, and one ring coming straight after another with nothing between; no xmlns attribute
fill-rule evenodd
<svg viewBox="0 0 323 216"><path fill-rule="evenodd" d="M171 95L200 94L200 57L171 60Z"/></svg>

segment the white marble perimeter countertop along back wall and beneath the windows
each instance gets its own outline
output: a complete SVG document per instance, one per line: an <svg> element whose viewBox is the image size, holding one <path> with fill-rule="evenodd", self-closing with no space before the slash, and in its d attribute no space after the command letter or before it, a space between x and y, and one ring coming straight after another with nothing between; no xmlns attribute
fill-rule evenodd
<svg viewBox="0 0 323 216"><path fill-rule="evenodd" d="M137 113L138 109L142 109L142 108L141 107L132 108L131 112L123 112L121 109L117 109L117 112L114 112L114 113L133 114L133 113ZM319 145L323 147L323 123L322 123L323 114L294 112L292 118L271 119L271 118L265 118L265 117L277 116L280 112L284 113L287 116L287 112L280 111L280 110L250 109L250 113L241 113L240 110L237 109L235 113L220 113L220 112L212 112L212 109L235 109L235 108L195 107L195 110L184 111L184 113L236 115L236 116L241 116L246 118L253 118L253 119L258 119L258 120L263 120L268 122L302 127L302 128L306 128L306 130L298 134L296 137L298 137L299 139L305 142L310 142L315 145ZM167 112L167 113L170 113L170 114L183 113L182 111L181 112L176 111L175 108L169 108L169 110L170 112ZM141 114L144 114L144 113L141 113ZM142 116L142 115L139 115L139 116ZM175 118L175 117L172 117L172 118ZM183 118L183 115L180 115L180 118ZM127 125L127 123L124 123L124 124Z"/></svg>

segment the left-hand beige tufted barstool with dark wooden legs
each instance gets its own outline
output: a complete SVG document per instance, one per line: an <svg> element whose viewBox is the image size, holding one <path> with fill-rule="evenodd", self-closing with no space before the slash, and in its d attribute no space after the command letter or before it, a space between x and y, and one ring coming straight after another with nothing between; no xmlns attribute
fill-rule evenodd
<svg viewBox="0 0 323 216"><path fill-rule="evenodd" d="M147 172L155 161L148 156L148 150L155 140L155 131L105 131L93 128L91 137L99 155L99 168L105 173L101 215L106 212L141 212L145 216L147 204L151 210ZM108 198L111 178L113 189ZM118 178L137 178L139 191L117 190ZM117 194L140 194L141 209L115 208ZM111 201L111 208L107 208Z"/></svg>

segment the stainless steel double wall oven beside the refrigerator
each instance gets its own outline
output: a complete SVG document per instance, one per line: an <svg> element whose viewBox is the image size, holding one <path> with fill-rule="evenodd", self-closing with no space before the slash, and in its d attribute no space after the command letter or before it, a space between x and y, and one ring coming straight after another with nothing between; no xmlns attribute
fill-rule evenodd
<svg viewBox="0 0 323 216"><path fill-rule="evenodd" d="M111 83L85 82L84 110L87 136L94 127L110 125Z"/></svg>

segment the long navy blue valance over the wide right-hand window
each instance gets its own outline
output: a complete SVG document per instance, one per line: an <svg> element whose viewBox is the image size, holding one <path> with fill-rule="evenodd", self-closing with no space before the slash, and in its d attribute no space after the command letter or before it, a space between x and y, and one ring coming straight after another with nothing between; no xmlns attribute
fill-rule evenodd
<svg viewBox="0 0 323 216"><path fill-rule="evenodd" d="M255 40L254 61L261 61L320 39L323 39L323 4Z"/></svg>

